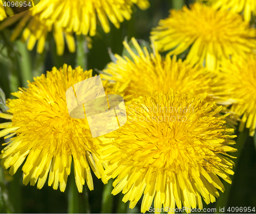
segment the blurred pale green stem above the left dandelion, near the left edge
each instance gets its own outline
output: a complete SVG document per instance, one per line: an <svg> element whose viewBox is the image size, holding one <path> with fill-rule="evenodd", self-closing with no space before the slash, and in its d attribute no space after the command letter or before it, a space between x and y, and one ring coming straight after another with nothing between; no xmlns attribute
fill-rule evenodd
<svg viewBox="0 0 256 214"><path fill-rule="evenodd" d="M20 54L19 58L19 69L20 69L20 77L22 79L22 86L27 87L28 80L32 81L32 64L31 64L31 56L30 52L26 47L26 44L20 40L16 42L18 52Z"/></svg>

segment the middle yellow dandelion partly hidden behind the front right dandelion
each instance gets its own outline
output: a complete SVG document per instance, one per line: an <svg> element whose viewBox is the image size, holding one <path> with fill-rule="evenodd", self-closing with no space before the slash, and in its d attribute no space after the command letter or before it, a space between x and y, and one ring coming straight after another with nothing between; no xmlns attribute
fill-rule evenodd
<svg viewBox="0 0 256 214"><path fill-rule="evenodd" d="M143 51L135 38L132 43L137 53L127 42L123 42L132 59L115 55L116 62L111 62L101 74L102 78L119 82L124 92L125 101L139 98L151 91L167 91L172 88L175 92L193 92L203 94L207 92L208 100L215 100L219 104L231 104L231 90L226 87L221 74L206 70L203 66L195 66L187 61L177 60L174 56L162 58L153 43L154 54Z"/></svg>

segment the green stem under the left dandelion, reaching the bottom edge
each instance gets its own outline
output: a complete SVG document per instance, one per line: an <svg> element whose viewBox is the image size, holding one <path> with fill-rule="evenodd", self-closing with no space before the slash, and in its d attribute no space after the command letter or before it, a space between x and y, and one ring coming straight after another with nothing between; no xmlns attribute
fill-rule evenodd
<svg viewBox="0 0 256 214"><path fill-rule="evenodd" d="M76 187L73 167L72 167L71 174L69 176L69 180L70 180L70 185L69 185L69 194L68 194L68 213L79 213L78 190Z"/></svg>

